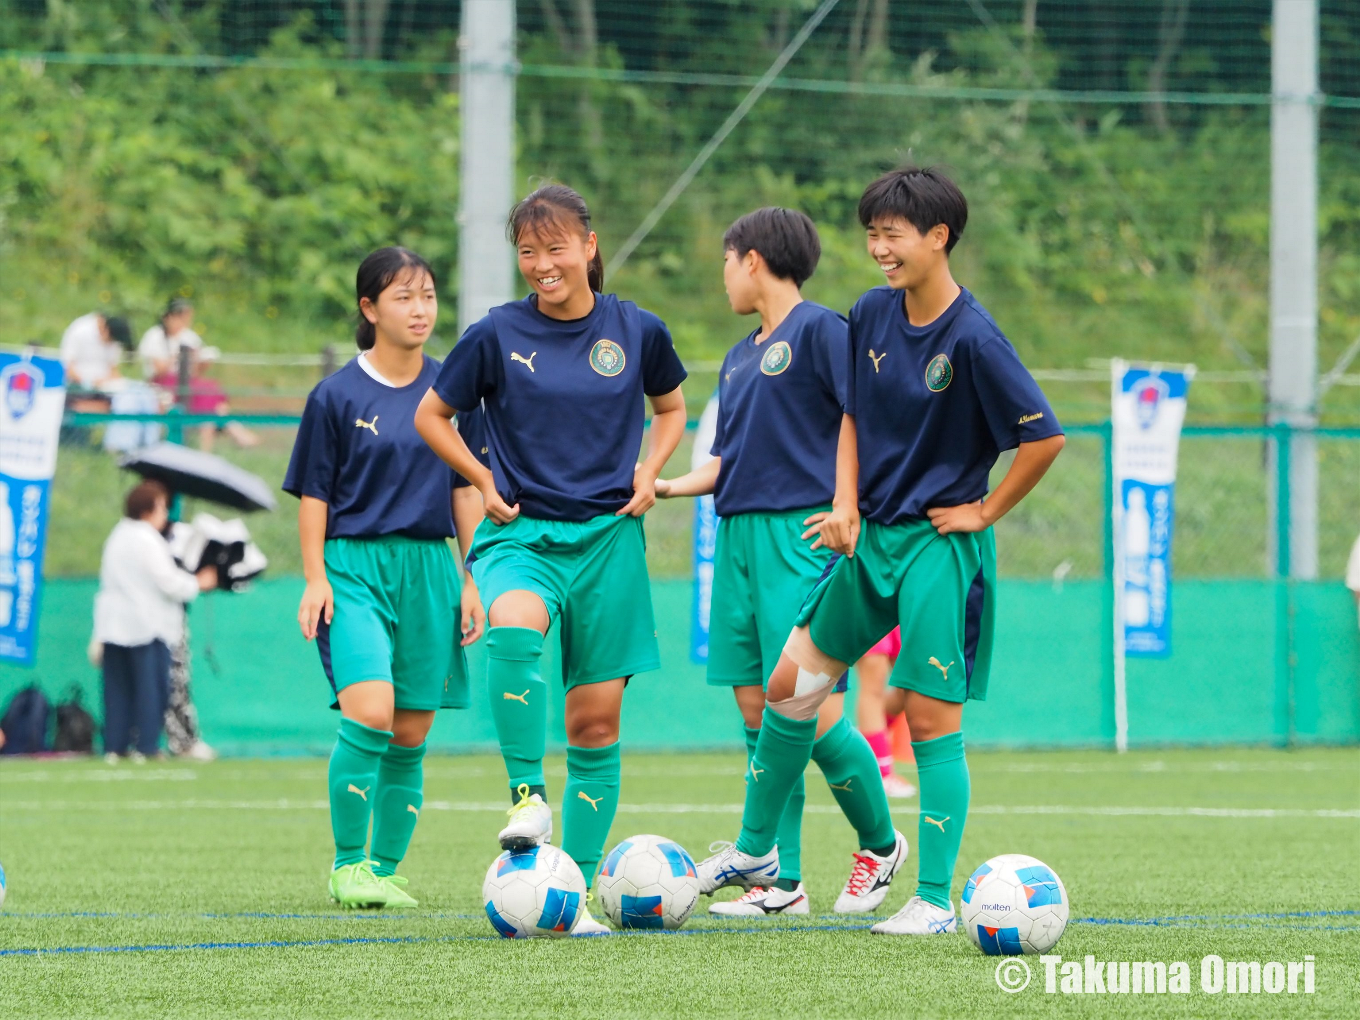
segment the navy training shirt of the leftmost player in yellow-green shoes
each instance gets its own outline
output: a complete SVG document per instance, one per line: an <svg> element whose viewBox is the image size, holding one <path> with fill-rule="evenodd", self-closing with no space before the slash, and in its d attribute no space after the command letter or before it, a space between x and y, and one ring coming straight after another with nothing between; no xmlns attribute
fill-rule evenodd
<svg viewBox="0 0 1360 1020"><path fill-rule="evenodd" d="M416 407L439 373L428 355L407 386L385 386L352 359L307 396L283 491L325 502L328 539L453 537L453 488L468 481L415 427ZM469 446L477 415L460 415ZM469 438L469 435L472 438Z"/></svg>

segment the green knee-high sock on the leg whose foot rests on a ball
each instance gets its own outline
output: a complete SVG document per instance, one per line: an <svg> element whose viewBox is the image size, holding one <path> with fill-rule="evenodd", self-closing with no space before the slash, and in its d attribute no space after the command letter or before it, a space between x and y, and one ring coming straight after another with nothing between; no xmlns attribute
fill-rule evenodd
<svg viewBox="0 0 1360 1020"><path fill-rule="evenodd" d="M539 673L543 635L532 627L487 631L487 694L510 789L543 787L548 744L548 685Z"/></svg>

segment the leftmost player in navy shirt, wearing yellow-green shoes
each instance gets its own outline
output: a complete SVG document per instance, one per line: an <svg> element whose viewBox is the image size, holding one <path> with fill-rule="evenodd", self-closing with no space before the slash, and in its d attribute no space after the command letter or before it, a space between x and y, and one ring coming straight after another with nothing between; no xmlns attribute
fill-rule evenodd
<svg viewBox="0 0 1360 1020"><path fill-rule="evenodd" d="M477 586L460 583L447 543L457 533L466 551L481 499L413 424L439 371L424 354L434 287L434 271L404 248L363 260L359 356L311 390L283 483L301 499L307 588L298 623L317 641L341 717L329 771L330 898L347 908L416 906L396 869L420 817L426 734L437 709L468 706L462 646L484 622Z"/></svg>

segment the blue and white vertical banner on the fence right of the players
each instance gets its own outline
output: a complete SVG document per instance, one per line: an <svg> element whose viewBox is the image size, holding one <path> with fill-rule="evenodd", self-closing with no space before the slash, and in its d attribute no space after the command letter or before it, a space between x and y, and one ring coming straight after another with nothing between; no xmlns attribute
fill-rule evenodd
<svg viewBox="0 0 1360 1020"><path fill-rule="evenodd" d="M1176 457L1194 366L1115 362L1115 608L1126 656L1171 654Z"/></svg>

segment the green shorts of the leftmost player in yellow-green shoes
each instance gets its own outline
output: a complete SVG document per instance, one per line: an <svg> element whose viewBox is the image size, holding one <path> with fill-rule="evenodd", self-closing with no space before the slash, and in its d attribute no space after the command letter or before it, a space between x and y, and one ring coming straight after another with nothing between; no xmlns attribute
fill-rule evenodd
<svg viewBox="0 0 1360 1020"><path fill-rule="evenodd" d="M317 649L330 688L386 680L397 709L466 709L461 582L449 544L396 534L328 539L325 563L335 613L318 627Z"/></svg>

